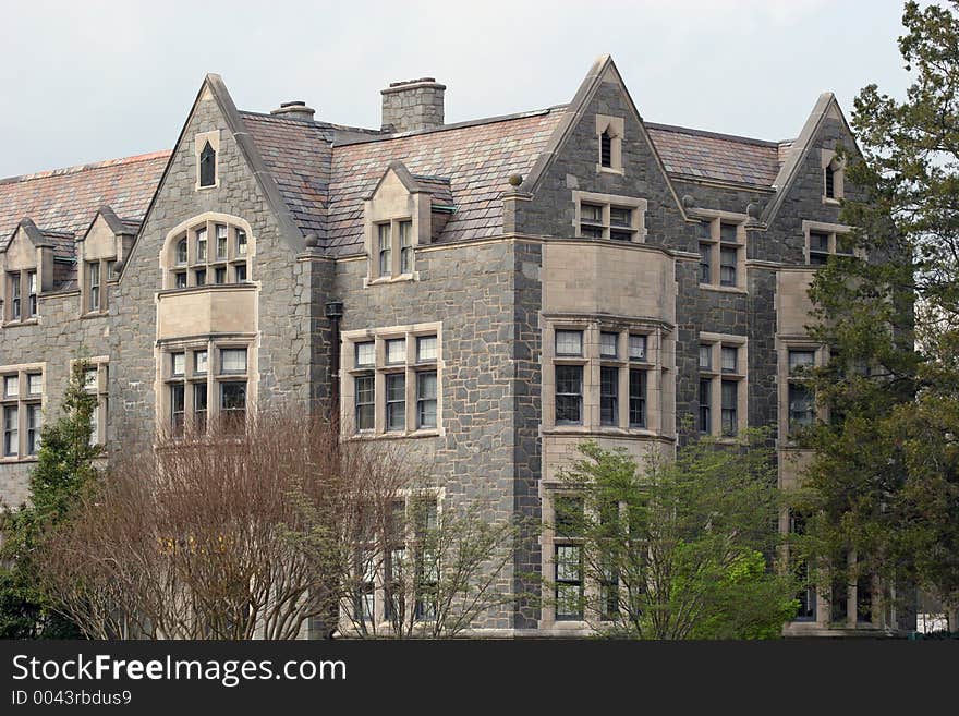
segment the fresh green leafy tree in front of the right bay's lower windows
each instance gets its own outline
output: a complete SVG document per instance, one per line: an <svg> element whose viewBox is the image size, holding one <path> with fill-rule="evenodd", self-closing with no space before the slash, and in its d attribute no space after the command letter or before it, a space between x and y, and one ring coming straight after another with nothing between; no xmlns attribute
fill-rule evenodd
<svg viewBox="0 0 959 716"><path fill-rule="evenodd" d="M551 529L573 546L580 592L558 602L600 634L629 639L758 639L796 614L794 580L772 569L780 508L762 434L703 438L640 470L595 441L560 473ZM556 587L555 584L551 585Z"/></svg>

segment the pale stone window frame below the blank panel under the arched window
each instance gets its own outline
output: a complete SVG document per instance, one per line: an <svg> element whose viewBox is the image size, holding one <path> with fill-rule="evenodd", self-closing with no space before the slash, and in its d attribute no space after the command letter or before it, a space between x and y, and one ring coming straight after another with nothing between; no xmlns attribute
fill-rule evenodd
<svg viewBox="0 0 959 716"><path fill-rule="evenodd" d="M220 349L241 348L246 350L246 373L220 373ZM193 362L194 351L207 351L207 372L195 373ZM185 353L184 374L172 375L173 353ZM174 384L194 385L206 381L207 384L207 424L213 423L220 413L219 385L221 383L246 384L246 414L247 416L256 409L257 386L259 372L257 362L256 336L197 336L183 339L170 339L159 342L155 350L156 357L156 384L154 395L157 404L157 427L162 432L171 425L170 414L170 386ZM183 397L184 426L190 430L193 427L193 390L185 390Z"/></svg>

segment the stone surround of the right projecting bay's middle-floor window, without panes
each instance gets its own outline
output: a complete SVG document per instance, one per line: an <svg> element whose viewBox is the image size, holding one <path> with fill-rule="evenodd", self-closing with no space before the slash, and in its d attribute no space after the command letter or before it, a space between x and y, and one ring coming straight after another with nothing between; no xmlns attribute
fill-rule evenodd
<svg viewBox="0 0 959 716"><path fill-rule="evenodd" d="M556 355L556 331L583 331L583 355ZM617 332L617 357L600 356L600 333ZM646 360L629 360L630 333L646 336ZM556 317L549 319L543 329L543 430L557 434L603 434L610 436L657 436L667 430L663 424L661 399L664 376L667 367L664 353L672 340L670 331L658 323L638 320L615 320L599 317ZM556 365L583 366L583 413L582 424L556 424ZM600 420L600 374L604 366L619 369L617 425L603 425ZM629 368L646 371L646 426L629 424Z"/></svg>

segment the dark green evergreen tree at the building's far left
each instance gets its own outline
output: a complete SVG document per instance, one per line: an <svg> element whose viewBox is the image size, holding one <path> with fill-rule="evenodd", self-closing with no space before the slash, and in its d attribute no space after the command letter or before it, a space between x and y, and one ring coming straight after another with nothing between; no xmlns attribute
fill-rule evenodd
<svg viewBox="0 0 959 716"><path fill-rule="evenodd" d="M71 638L76 626L59 614L39 585L37 554L44 541L71 519L75 506L96 484L102 448L92 445L97 398L85 388L86 361L73 365L62 415L40 434L37 465L31 471L29 502L2 515L0 636Z"/></svg>

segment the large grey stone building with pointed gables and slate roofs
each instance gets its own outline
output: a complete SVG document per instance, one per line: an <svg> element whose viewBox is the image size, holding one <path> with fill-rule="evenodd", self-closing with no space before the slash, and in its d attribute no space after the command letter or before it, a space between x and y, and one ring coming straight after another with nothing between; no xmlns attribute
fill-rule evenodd
<svg viewBox="0 0 959 716"><path fill-rule="evenodd" d="M815 408L790 368L824 359L805 287L854 192L833 95L767 142L645 122L608 57L547 109L445 124L445 89L391 84L362 129L304 102L238 110L208 75L172 151L0 180L2 497L25 498L81 354L105 445L315 404L337 379L344 438L405 440L445 500L483 495L490 519L548 523L580 440L670 453L687 416L775 426L792 484L790 426ZM547 530L502 588L554 574L561 547ZM839 627L897 621L857 610L866 591ZM835 628L829 611L811 591L789 631ZM554 606L483 624L583 629Z"/></svg>

